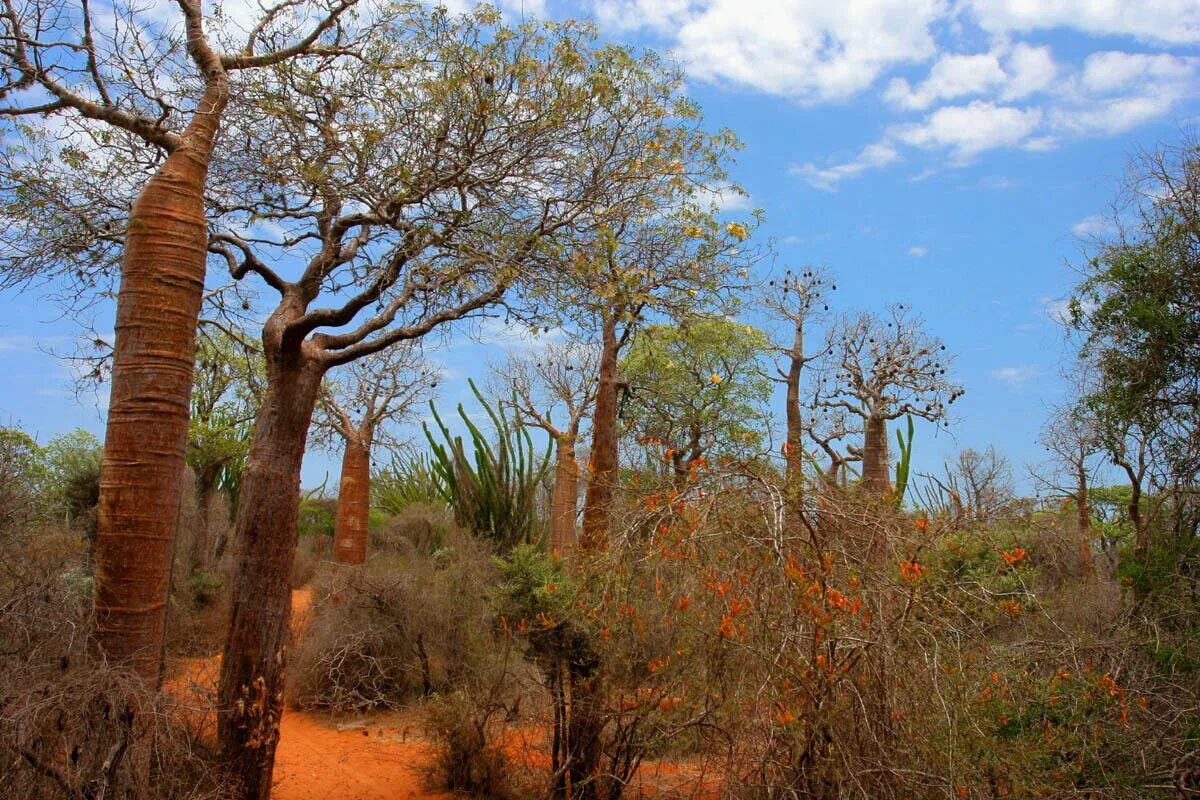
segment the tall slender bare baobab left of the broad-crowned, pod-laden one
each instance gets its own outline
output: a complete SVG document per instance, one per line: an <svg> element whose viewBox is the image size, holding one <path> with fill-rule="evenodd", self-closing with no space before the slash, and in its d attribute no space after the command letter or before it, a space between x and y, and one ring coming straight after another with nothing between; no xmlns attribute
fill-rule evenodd
<svg viewBox="0 0 1200 800"><path fill-rule="evenodd" d="M770 379L784 385L784 462L787 501L791 515L797 517L804 506L804 404L802 380L805 368L824 355L824 348L812 348L809 342L810 326L829 311L826 295L836 290L829 275L809 266L799 271L787 270L782 277L768 281L762 288L758 305L772 320L773 327L781 329L779 339L768 349L774 357L774 374Z"/></svg>

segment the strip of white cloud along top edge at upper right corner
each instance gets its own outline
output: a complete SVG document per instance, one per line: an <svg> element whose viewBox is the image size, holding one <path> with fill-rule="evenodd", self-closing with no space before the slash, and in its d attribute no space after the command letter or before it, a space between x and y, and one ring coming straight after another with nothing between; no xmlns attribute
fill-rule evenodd
<svg viewBox="0 0 1200 800"><path fill-rule="evenodd" d="M967 0L966 7L994 34L1072 28L1093 36L1200 42L1195 0Z"/></svg>

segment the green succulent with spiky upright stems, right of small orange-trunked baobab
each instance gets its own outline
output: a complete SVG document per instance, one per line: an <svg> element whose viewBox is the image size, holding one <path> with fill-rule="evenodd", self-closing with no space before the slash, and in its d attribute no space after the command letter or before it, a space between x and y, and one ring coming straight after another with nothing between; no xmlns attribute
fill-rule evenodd
<svg viewBox="0 0 1200 800"><path fill-rule="evenodd" d="M472 422L460 404L458 416L470 432L473 452L469 457L462 437L450 433L431 401L430 409L442 438L438 441L430 426L422 426L433 450L432 470L460 525L505 548L530 542L540 530L534 501L550 465L551 446L547 445L539 461L533 438L520 416L510 419L504 409L497 411L475 383L468 383L492 420L496 441L493 444Z"/></svg>

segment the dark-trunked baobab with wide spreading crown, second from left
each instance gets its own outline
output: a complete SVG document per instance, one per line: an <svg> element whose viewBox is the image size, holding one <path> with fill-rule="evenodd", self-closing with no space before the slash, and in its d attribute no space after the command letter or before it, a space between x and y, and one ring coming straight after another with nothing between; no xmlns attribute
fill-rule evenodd
<svg viewBox="0 0 1200 800"><path fill-rule="evenodd" d="M586 25L403 13L371 47L404 70L305 61L247 85L210 187L210 249L278 295L218 690L238 798L270 792L300 464L325 373L535 300L526 287L566 242L680 180L677 154L710 139L676 71L595 46Z"/></svg>

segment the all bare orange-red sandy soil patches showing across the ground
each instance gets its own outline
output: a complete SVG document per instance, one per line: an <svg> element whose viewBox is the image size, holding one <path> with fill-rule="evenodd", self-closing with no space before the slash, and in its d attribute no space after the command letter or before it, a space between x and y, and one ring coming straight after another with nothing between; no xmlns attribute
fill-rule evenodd
<svg viewBox="0 0 1200 800"><path fill-rule="evenodd" d="M293 630L300 632L312 604L312 589L292 594ZM167 690L180 715L204 739L215 738L211 693L221 657L184 658L173 664ZM546 733L511 728L504 748L515 765L548 769ZM334 720L288 709L280 724L275 758L275 800L449 800L454 794L428 788L433 748L410 712ZM714 775L697 763L643 764L630 796L714 796Z"/></svg>

